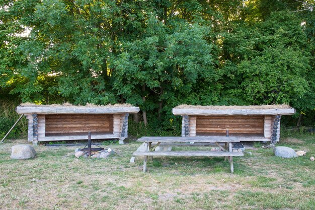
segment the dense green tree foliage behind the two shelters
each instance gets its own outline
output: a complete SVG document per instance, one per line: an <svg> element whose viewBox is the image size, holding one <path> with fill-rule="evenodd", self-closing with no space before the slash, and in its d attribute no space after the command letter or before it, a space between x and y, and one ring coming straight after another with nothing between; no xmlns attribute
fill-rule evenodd
<svg viewBox="0 0 315 210"><path fill-rule="evenodd" d="M287 103L314 123L313 0L0 2L3 97L131 103L155 130L178 130L179 104Z"/></svg>

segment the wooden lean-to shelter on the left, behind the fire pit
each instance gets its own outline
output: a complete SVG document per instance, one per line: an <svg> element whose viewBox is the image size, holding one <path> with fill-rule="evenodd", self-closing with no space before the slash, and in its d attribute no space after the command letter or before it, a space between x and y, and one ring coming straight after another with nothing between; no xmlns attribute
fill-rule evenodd
<svg viewBox="0 0 315 210"><path fill-rule="evenodd" d="M17 113L27 116L28 141L63 141L119 138L123 144L128 136L128 115L139 107L129 104L106 106L35 105L21 104Z"/></svg>

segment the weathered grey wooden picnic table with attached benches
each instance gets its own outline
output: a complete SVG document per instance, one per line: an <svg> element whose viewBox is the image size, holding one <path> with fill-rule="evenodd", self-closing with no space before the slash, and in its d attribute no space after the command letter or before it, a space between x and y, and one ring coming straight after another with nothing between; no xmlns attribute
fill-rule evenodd
<svg viewBox="0 0 315 210"><path fill-rule="evenodd" d="M134 152L134 156L144 156L143 172L146 171L148 157L152 156L206 156L224 157L230 163L230 170L233 173L233 156L244 156L242 152L233 152L232 143L240 142L236 136L143 136L137 140L143 142L145 151ZM220 144L224 144L223 147ZM215 145L220 151L155 151L158 146L172 147L207 147Z"/></svg>

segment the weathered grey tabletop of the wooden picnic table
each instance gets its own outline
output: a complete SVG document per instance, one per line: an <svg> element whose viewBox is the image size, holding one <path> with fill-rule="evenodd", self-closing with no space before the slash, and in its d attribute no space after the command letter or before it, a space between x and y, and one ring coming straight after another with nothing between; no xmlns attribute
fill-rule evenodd
<svg viewBox="0 0 315 210"><path fill-rule="evenodd" d="M137 142L201 142L201 143L225 143L225 142L240 142L238 137L232 136L142 136Z"/></svg>

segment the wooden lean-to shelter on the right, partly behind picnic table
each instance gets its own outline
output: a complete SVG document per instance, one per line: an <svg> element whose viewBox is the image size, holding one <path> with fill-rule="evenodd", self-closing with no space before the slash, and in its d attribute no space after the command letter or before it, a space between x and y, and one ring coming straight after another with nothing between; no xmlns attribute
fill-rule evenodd
<svg viewBox="0 0 315 210"><path fill-rule="evenodd" d="M182 136L238 136L241 141L276 144L280 139L281 115L291 115L288 105L262 106L191 106L172 110L183 116Z"/></svg>

